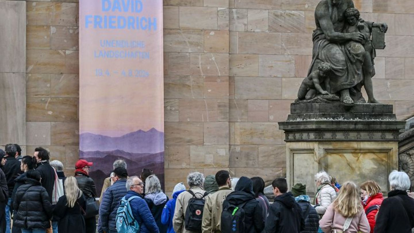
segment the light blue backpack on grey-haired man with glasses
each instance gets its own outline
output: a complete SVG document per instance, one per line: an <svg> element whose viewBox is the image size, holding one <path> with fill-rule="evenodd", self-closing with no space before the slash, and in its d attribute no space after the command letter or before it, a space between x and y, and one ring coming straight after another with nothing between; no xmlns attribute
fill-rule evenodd
<svg viewBox="0 0 414 233"><path fill-rule="evenodd" d="M140 225L132 215L130 204L130 201L135 198L140 197L132 196L128 200L123 197L120 201L118 211L116 211L116 231L118 233L137 233L140 231Z"/></svg>

